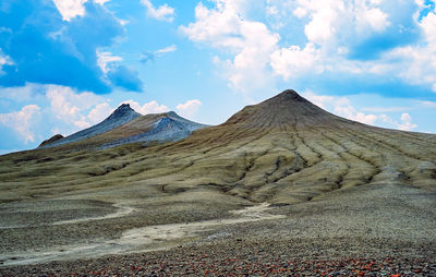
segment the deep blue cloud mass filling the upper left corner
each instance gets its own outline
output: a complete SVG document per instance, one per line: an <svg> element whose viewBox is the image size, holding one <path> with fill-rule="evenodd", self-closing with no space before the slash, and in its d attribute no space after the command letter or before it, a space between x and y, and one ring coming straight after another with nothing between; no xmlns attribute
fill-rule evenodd
<svg viewBox="0 0 436 277"><path fill-rule="evenodd" d="M10 62L1 67L1 86L55 84L97 94L109 93L113 85L132 87L134 71L108 77L101 64L109 56L97 57L98 49L124 34L120 21L100 4L104 1L5 1L0 28L8 32L0 32L0 49Z"/></svg>

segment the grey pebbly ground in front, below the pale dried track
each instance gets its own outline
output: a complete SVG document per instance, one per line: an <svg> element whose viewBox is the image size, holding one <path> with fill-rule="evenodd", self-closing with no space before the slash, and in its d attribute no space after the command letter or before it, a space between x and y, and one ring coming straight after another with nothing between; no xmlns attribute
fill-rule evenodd
<svg viewBox="0 0 436 277"><path fill-rule="evenodd" d="M358 188L257 214L278 217L157 237L152 252L3 265L0 276L436 276L435 203L413 188Z"/></svg>

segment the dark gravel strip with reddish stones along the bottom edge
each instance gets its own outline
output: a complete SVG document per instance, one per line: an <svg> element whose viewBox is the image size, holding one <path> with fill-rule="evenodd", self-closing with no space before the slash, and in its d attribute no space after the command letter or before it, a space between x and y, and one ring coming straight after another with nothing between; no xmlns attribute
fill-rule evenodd
<svg viewBox="0 0 436 277"><path fill-rule="evenodd" d="M366 243L365 251L353 254L353 242L340 238L232 238L153 253L0 268L0 276L436 276L433 244L355 243ZM336 254L327 254L332 250Z"/></svg>

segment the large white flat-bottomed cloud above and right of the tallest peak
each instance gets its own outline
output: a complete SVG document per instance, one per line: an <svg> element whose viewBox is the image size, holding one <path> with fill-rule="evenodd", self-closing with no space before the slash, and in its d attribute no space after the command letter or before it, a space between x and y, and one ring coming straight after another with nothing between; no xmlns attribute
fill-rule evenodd
<svg viewBox="0 0 436 277"><path fill-rule="evenodd" d="M287 9L301 23L306 22L303 26L308 43L304 48L291 45L277 49L270 56L276 75L289 80L324 72L378 75L391 72L390 63L347 57L355 44L390 26L389 15L379 7L380 1L295 0L292 3Z"/></svg>

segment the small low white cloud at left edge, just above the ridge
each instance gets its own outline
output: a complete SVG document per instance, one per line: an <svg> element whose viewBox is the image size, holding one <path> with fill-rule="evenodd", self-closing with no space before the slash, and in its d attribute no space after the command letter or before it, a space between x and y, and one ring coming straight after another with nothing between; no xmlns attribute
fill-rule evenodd
<svg viewBox="0 0 436 277"><path fill-rule="evenodd" d="M40 108L37 105L27 105L20 111L0 113L0 123L17 132L27 144L28 142L35 142L33 123L39 116Z"/></svg>

